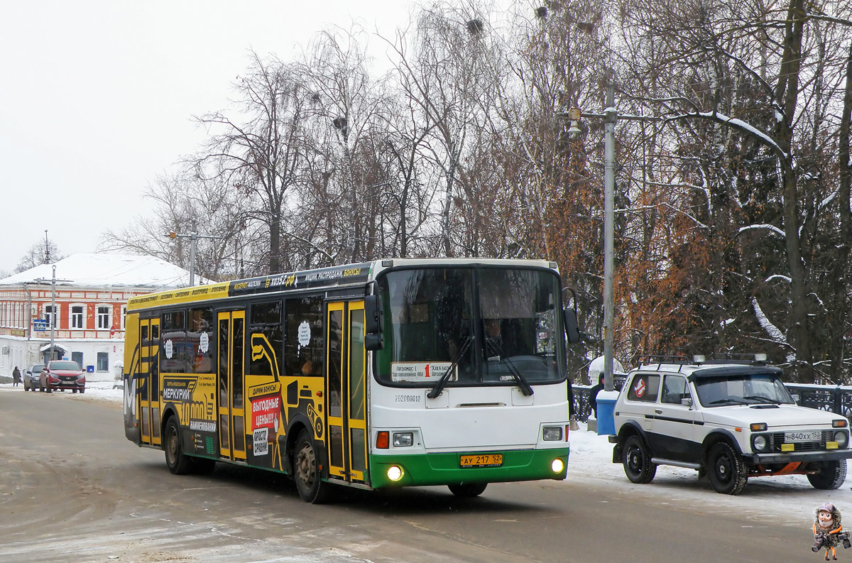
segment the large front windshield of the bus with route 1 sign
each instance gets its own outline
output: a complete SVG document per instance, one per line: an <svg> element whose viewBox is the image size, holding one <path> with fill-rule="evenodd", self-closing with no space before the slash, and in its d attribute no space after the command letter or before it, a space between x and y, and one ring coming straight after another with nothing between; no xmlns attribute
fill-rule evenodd
<svg viewBox="0 0 852 563"><path fill-rule="evenodd" d="M447 387L469 387L564 379L556 273L417 268L386 273L378 284L379 382L430 387L447 375Z"/></svg>

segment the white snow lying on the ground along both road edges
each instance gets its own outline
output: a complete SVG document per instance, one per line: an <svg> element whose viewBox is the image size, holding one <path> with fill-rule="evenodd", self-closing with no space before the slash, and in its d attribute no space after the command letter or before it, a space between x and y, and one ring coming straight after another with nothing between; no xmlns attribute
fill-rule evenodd
<svg viewBox="0 0 852 563"><path fill-rule="evenodd" d="M8 394L24 393L22 386L0 384L3 399ZM113 389L110 382L89 382L85 394L63 392L66 399L109 401L120 405L124 396L121 388ZM821 503L835 503L841 513L852 511L852 468L849 477L837 491L818 491L810 486L803 475L761 477L750 479L737 497L720 495L713 491L709 481L698 480L692 469L660 466L657 476L648 485L634 485L625 477L620 464L612 462L613 446L606 436L586 430L580 423L578 431L571 433L571 457L568 477L564 483L587 482L589 485L610 488L625 497L642 498L659 506L691 503L698 510L712 510L735 514L748 520L759 520L769 515L791 526L809 527L814 521L814 510Z"/></svg>

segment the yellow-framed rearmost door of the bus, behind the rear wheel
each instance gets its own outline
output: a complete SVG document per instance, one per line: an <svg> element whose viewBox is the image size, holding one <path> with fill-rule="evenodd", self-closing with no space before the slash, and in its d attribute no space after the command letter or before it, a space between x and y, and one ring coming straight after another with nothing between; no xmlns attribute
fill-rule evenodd
<svg viewBox="0 0 852 563"><path fill-rule="evenodd" d="M159 318L139 320L139 421L142 444L160 444Z"/></svg>

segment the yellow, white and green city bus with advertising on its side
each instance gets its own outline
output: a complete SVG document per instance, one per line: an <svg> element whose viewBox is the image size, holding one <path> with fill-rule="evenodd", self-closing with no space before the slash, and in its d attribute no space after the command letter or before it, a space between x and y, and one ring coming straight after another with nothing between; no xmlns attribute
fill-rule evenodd
<svg viewBox="0 0 852 563"><path fill-rule="evenodd" d="M567 344L556 263L379 260L136 296L124 430L173 474L216 462L338 485L564 480ZM339 489L337 489L339 490Z"/></svg>

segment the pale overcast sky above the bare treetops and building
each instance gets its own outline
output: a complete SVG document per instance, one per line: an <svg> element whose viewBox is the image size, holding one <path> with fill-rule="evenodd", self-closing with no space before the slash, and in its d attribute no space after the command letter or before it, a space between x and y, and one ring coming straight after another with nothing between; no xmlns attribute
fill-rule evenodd
<svg viewBox="0 0 852 563"><path fill-rule="evenodd" d="M405 0L6 0L0 18L0 273L48 237L94 252L227 108L248 49L290 60L328 26L391 37ZM371 38L381 57L380 40Z"/></svg>

